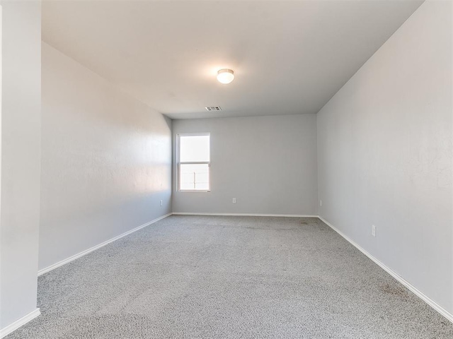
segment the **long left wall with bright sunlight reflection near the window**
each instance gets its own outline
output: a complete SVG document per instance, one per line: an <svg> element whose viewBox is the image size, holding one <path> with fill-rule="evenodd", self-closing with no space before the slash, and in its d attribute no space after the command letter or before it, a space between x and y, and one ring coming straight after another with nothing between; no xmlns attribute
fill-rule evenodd
<svg viewBox="0 0 453 339"><path fill-rule="evenodd" d="M171 213L171 120L45 43L41 166L40 269Z"/></svg>

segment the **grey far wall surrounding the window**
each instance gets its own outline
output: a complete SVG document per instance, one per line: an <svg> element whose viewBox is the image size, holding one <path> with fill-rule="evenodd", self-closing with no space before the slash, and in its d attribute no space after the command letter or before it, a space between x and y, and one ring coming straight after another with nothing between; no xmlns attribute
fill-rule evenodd
<svg viewBox="0 0 453 339"><path fill-rule="evenodd" d="M178 192L176 136L196 132L211 133L211 191ZM173 162L175 213L316 215L314 114L173 120Z"/></svg>

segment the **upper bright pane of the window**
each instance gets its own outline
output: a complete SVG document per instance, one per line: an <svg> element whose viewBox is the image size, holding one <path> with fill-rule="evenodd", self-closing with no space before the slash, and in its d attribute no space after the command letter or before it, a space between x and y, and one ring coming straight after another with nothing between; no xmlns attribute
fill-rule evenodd
<svg viewBox="0 0 453 339"><path fill-rule="evenodd" d="M180 136L180 162L209 162L210 136Z"/></svg>

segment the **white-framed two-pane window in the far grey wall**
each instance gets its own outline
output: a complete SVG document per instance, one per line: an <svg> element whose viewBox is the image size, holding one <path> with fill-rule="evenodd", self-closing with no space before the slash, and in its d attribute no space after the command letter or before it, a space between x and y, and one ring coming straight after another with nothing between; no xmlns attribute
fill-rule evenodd
<svg viewBox="0 0 453 339"><path fill-rule="evenodd" d="M210 133L178 134L178 191L210 191Z"/></svg>

